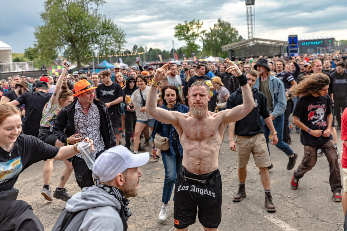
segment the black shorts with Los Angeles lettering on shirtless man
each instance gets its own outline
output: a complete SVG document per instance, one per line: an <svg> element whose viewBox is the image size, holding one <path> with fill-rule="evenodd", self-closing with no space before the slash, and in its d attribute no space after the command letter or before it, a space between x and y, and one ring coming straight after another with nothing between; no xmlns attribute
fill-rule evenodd
<svg viewBox="0 0 347 231"><path fill-rule="evenodd" d="M205 183L189 179L204 177ZM175 184L175 228L184 229L194 224L197 207L200 223L205 228L218 228L222 219L222 181L218 169L209 174L196 175L182 167Z"/></svg>

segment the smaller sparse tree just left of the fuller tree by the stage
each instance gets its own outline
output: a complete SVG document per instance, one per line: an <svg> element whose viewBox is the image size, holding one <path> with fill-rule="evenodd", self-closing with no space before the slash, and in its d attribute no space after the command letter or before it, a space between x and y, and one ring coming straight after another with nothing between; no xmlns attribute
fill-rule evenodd
<svg viewBox="0 0 347 231"><path fill-rule="evenodd" d="M201 30L203 23L199 20L193 19L190 22L184 21L183 24L177 24L175 29L175 37L179 41L184 41L186 43L186 51L189 53L196 52L199 45L195 43L196 39L198 39L201 34L205 33L205 30Z"/></svg>

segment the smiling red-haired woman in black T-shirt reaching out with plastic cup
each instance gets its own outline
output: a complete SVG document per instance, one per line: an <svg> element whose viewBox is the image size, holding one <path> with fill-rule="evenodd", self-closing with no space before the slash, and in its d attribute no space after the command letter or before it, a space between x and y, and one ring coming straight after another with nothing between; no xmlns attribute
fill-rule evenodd
<svg viewBox="0 0 347 231"><path fill-rule="evenodd" d="M21 113L10 104L0 105L0 221L1 230L43 230L31 206L18 201L13 188L18 176L33 163L46 159L65 160L75 156L77 145L53 147L22 131ZM86 141L90 141L88 138ZM91 140L92 150L93 141ZM17 227L17 228L14 228Z"/></svg>

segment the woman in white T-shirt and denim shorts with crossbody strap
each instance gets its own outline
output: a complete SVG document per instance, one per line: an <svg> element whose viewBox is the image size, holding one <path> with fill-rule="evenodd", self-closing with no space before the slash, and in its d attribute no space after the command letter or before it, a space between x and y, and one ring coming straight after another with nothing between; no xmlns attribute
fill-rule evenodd
<svg viewBox="0 0 347 231"><path fill-rule="evenodd" d="M135 106L135 113L136 113L136 124L135 124L135 131L134 131L134 153L138 153L139 150L139 144L140 144L140 135L143 129L148 125L151 130L153 131L153 125L154 125L154 118L146 112L146 100L147 100L147 93L150 89L149 86L147 86L147 78L143 74L137 75L135 78L136 84L139 87L138 90L134 91L134 93L131 96L131 103L128 104L130 107ZM157 100L159 99L158 95L156 96ZM143 151L143 149L141 147Z"/></svg>

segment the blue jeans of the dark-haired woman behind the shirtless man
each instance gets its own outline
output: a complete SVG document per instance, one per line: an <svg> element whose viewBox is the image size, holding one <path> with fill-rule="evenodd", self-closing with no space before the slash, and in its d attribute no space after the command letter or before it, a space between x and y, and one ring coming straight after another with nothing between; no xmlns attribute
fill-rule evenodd
<svg viewBox="0 0 347 231"><path fill-rule="evenodd" d="M163 187L163 197L161 201L168 204L171 198L172 189L176 183L179 172L182 169L183 155L176 154L176 156L161 155L165 169L165 179ZM175 196L174 196L175 201Z"/></svg>

